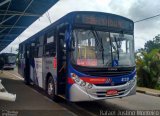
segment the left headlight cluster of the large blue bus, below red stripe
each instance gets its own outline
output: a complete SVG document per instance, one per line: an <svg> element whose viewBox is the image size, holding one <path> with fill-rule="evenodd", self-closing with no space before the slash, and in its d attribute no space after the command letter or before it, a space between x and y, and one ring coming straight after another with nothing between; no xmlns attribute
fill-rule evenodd
<svg viewBox="0 0 160 116"><path fill-rule="evenodd" d="M74 73L71 73L71 77L74 80L74 82L80 85L81 87L86 87L88 89L91 89L93 87L93 84L83 81Z"/></svg>

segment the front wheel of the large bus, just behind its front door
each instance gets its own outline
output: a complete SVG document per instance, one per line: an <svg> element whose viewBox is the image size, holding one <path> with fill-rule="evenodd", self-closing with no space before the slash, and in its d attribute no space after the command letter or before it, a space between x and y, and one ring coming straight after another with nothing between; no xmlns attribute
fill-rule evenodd
<svg viewBox="0 0 160 116"><path fill-rule="evenodd" d="M57 96L55 94L55 83L52 76L49 76L48 78L46 93L50 99L56 102L58 101Z"/></svg>

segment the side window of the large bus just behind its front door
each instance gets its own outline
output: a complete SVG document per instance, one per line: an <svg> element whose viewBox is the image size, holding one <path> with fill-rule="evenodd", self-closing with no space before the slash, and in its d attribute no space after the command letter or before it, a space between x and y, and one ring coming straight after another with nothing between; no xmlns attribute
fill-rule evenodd
<svg viewBox="0 0 160 116"><path fill-rule="evenodd" d="M47 37L45 40L44 55L45 56L55 56L56 55L56 41L55 41L53 31L47 33Z"/></svg>

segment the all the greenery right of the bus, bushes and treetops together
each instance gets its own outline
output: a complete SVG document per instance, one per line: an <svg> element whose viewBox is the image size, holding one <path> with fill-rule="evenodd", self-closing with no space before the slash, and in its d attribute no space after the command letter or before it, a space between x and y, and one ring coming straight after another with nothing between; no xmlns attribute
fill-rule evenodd
<svg viewBox="0 0 160 116"><path fill-rule="evenodd" d="M160 89L160 35L136 52L138 85Z"/></svg>

